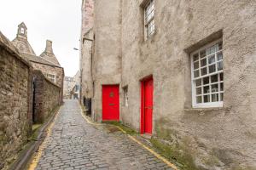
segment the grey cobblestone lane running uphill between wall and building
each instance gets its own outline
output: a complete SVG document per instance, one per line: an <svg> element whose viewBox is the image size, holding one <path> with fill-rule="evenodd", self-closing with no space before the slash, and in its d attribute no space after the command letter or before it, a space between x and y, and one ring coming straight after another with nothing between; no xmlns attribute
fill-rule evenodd
<svg viewBox="0 0 256 170"><path fill-rule="evenodd" d="M123 133L90 125L66 100L36 169L172 169Z"/></svg>

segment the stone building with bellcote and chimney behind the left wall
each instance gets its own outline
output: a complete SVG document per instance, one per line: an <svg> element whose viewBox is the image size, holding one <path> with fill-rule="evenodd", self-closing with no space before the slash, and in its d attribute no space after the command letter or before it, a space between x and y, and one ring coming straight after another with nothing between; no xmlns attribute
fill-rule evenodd
<svg viewBox="0 0 256 170"><path fill-rule="evenodd" d="M44 52L37 56L27 40L27 28L22 22L18 26L17 35L12 42L19 49L21 56L30 61L34 69L42 71L45 77L63 89L64 69L53 53L51 41L46 41Z"/></svg>

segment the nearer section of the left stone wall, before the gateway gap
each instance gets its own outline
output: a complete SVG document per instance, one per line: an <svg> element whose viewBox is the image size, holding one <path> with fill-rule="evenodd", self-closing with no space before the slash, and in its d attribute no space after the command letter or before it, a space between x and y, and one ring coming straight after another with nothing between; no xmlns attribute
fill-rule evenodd
<svg viewBox="0 0 256 170"><path fill-rule="evenodd" d="M0 169L31 132L31 66L0 31Z"/></svg>

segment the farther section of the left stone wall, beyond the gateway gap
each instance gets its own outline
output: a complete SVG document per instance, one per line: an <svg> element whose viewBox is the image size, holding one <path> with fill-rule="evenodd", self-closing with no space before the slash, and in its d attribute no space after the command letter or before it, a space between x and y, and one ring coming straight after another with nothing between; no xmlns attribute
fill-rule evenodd
<svg viewBox="0 0 256 170"><path fill-rule="evenodd" d="M42 123L58 105L61 105L61 87L44 77L42 71L36 70L33 71L33 88L34 122Z"/></svg>

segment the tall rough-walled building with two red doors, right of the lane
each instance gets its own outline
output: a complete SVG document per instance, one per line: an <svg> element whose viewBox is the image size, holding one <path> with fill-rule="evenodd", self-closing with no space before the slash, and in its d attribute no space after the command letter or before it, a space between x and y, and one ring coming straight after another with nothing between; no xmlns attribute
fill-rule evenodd
<svg viewBox="0 0 256 170"><path fill-rule="evenodd" d="M166 140L199 169L255 169L255 8L84 0L81 97L92 117Z"/></svg>

